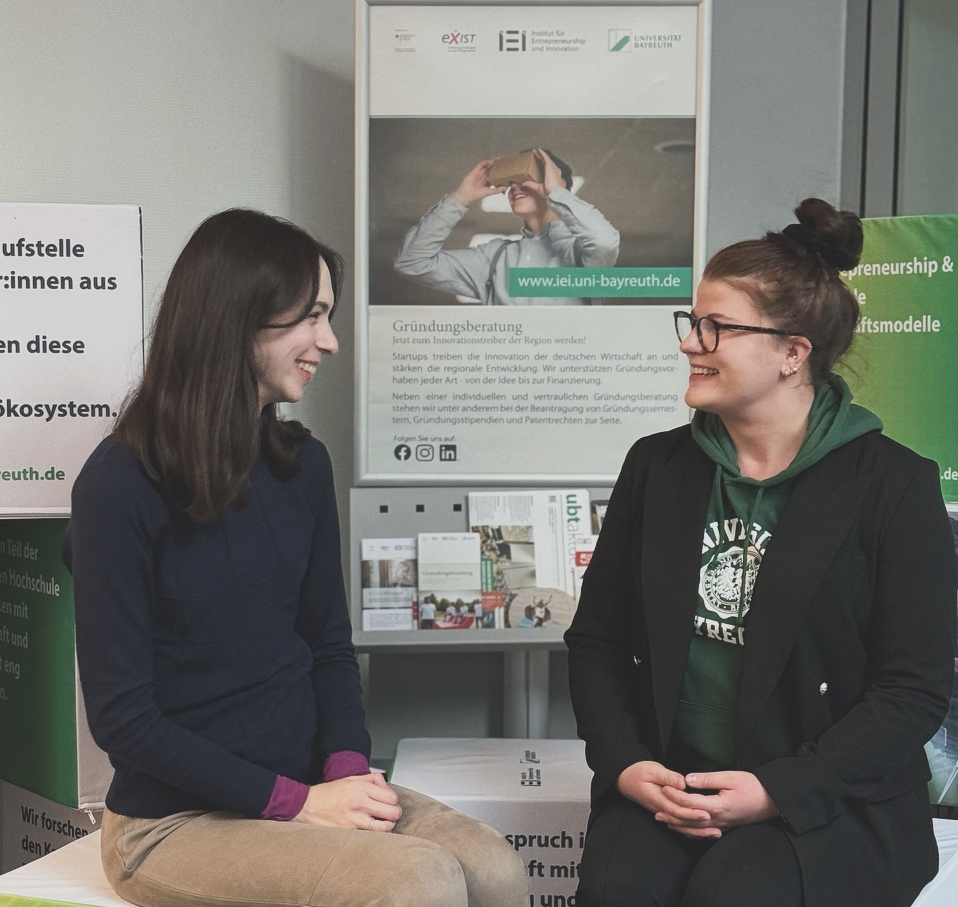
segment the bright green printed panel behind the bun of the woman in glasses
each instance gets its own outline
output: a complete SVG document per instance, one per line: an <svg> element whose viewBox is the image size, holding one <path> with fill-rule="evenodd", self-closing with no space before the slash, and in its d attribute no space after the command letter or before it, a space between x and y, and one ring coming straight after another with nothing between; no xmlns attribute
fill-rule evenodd
<svg viewBox="0 0 958 907"><path fill-rule="evenodd" d="M938 463L958 501L958 215L864 221L861 263L843 272L861 306L842 372L885 432Z"/></svg>

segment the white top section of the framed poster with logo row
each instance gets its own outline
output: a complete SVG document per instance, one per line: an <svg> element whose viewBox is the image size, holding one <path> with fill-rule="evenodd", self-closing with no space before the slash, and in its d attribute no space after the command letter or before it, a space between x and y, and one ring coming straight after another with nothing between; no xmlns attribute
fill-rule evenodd
<svg viewBox="0 0 958 907"><path fill-rule="evenodd" d="M373 117L695 116L695 6L371 6Z"/></svg>

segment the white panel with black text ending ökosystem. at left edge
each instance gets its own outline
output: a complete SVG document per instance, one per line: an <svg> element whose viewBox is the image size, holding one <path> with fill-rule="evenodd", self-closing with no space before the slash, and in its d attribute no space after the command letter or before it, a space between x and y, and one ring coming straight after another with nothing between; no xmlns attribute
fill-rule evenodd
<svg viewBox="0 0 958 907"><path fill-rule="evenodd" d="M139 208L0 203L0 517L69 512L142 337Z"/></svg>

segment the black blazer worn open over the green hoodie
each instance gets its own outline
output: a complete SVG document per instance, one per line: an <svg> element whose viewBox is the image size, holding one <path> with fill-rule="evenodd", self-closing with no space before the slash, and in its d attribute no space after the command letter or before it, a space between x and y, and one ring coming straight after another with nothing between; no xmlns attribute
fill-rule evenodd
<svg viewBox="0 0 958 907"><path fill-rule="evenodd" d="M638 441L610 498L566 633L594 804L664 761L714 474L684 426ZM951 694L955 590L932 461L875 431L795 479L752 593L735 768L780 809L809 907L908 904L937 871L923 746ZM871 900L841 884L858 868Z"/></svg>

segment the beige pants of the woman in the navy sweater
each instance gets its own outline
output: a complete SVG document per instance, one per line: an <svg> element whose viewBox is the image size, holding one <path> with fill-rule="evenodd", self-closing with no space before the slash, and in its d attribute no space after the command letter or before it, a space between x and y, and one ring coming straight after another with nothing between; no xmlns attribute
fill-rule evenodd
<svg viewBox="0 0 958 907"><path fill-rule="evenodd" d="M392 833L183 812L103 812L106 877L142 907L527 907L525 867L498 832L395 787Z"/></svg>

